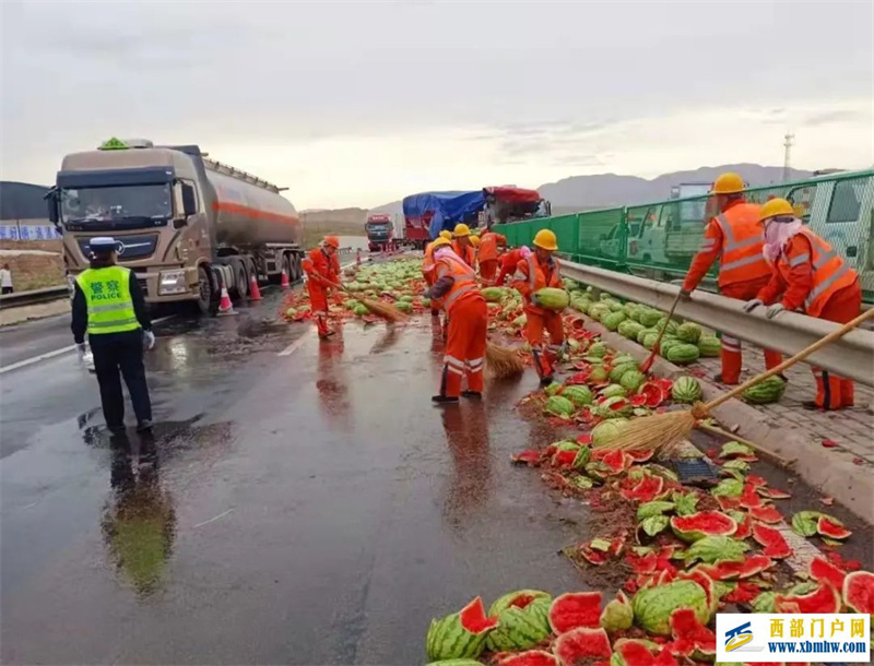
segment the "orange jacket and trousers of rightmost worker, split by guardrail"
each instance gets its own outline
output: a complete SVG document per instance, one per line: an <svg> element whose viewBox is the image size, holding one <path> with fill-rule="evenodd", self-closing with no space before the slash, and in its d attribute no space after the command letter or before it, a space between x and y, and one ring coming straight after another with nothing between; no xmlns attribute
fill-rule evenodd
<svg viewBox="0 0 874 666"><path fill-rule="evenodd" d="M862 288L857 272L828 242L806 227L802 227L783 247L770 282L756 298L765 305L779 299L787 310L802 310L811 317L841 324L858 317L862 308ZM852 380L816 367L813 374L817 407L841 409L853 406Z"/></svg>

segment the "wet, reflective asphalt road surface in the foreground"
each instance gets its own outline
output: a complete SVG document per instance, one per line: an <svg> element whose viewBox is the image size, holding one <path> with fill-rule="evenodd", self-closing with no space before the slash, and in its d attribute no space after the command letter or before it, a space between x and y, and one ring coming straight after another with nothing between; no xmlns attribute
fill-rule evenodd
<svg viewBox="0 0 874 666"><path fill-rule="evenodd" d="M531 386L440 412L427 319L275 311L160 328L154 442L109 441L71 354L4 376L4 663L417 664L476 594L580 587L579 507L508 463L548 440Z"/></svg>

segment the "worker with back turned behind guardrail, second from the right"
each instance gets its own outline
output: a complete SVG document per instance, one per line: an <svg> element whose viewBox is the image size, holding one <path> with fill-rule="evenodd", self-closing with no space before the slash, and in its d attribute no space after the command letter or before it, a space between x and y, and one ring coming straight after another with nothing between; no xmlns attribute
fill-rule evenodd
<svg viewBox="0 0 874 666"><path fill-rule="evenodd" d="M768 281L771 269L761 253L763 236L759 225L760 206L747 203L744 181L737 174L725 173L713 182L710 191L720 213L705 229L701 248L692 261L683 282L681 296L688 298L719 258L719 293L729 298L755 298ZM741 378L741 341L722 336L722 372L713 379L736 384ZM773 368L782 360L780 354L765 349L765 366Z"/></svg>

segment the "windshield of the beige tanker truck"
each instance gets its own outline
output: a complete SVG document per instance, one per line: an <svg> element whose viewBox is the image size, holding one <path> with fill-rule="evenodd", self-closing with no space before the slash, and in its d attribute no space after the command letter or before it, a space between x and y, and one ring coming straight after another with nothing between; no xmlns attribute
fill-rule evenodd
<svg viewBox="0 0 874 666"><path fill-rule="evenodd" d="M61 222L152 223L173 216L169 183L61 190Z"/></svg>

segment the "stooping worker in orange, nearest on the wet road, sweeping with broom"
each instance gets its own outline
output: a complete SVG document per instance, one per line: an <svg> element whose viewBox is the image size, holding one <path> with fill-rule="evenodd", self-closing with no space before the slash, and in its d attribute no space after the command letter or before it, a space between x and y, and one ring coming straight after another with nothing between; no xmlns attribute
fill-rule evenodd
<svg viewBox="0 0 874 666"><path fill-rule="evenodd" d="M459 395L482 397L488 310L473 269L452 251L445 238L434 241L434 261L435 281L428 297L446 311L449 326L440 392L432 400L447 405L458 403ZM468 388L462 391L465 376Z"/></svg>

